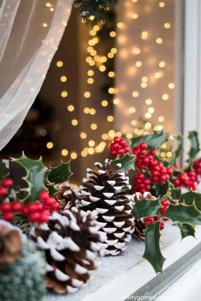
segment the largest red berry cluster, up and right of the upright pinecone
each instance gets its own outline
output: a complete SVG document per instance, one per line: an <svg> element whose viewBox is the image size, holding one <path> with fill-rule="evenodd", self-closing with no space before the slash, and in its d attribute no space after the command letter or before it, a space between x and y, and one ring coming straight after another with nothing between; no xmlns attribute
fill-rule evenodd
<svg viewBox="0 0 201 301"><path fill-rule="evenodd" d="M136 155L136 166L138 169L146 168L152 176L152 184L157 184L163 186L165 181L169 180L170 175L173 174L173 169L171 167L165 167L162 162L158 162L154 159L156 151L151 149L146 151L146 142L132 149L133 154ZM150 184L150 183L149 183Z"/></svg>

